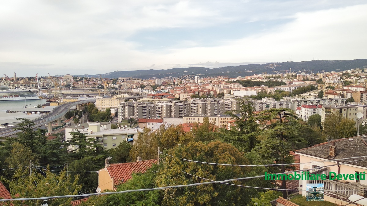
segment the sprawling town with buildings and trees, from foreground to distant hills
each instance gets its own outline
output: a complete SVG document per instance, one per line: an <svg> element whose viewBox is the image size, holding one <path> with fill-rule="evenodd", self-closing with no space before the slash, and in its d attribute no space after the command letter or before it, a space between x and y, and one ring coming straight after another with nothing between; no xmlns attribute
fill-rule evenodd
<svg viewBox="0 0 367 206"><path fill-rule="evenodd" d="M114 198L123 198L119 201L123 205L169 205L172 201L186 205L204 198L206 195L200 192L208 190L210 195L219 195L212 196L210 201L228 195L222 191L228 190L237 198L230 201L235 205L281 206L296 205L303 197L311 199L306 185L321 183L325 202L353 205L351 195L366 196L367 183L363 178L250 179L236 183L248 187L239 190L220 183L218 188L190 187L189 190L199 192L194 196L182 193L184 188L175 191L170 186L204 184L209 177L216 181L227 178L220 176L229 172L225 172L229 166L210 168L208 163L250 168L260 165L255 173L247 167L234 166L238 170L226 174L232 178L264 172L367 172L366 76L364 69L351 69L317 74L284 71L237 78L187 76L142 80L69 74L4 77L1 87L8 89L4 91L34 91L40 100L47 101L37 108L1 107L4 144L0 145L0 195L4 199L26 197L24 191L49 181L55 187L50 195L75 195L68 199L73 206L105 205ZM206 156L206 152L213 155ZM177 158L181 161L177 162ZM192 168L190 164L195 165ZM199 168L204 166L206 172L202 173ZM18 182L19 178L38 183L31 181L27 183L29 189L23 190L18 188L23 184ZM186 178L188 182L183 181ZM68 186L59 188L60 181ZM128 193L93 195L155 187L166 188L166 192L132 193L134 201ZM36 189L38 196L46 195L42 192L46 188ZM248 195L241 195L243 192ZM181 199L183 196L185 200ZM251 198L240 203L247 196ZM38 204L36 199L28 201Z"/></svg>

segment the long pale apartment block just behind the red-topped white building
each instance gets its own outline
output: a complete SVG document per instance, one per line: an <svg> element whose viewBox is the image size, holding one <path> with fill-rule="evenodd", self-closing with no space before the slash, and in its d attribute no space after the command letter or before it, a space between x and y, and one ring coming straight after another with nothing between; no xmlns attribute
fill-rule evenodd
<svg viewBox="0 0 367 206"><path fill-rule="evenodd" d="M291 110L296 110L302 105L337 104L345 105L346 98L290 98Z"/></svg>

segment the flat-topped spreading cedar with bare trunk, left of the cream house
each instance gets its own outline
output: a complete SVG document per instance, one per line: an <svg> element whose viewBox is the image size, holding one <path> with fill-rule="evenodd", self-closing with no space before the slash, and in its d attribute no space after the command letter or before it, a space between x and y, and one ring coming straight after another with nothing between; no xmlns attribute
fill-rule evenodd
<svg viewBox="0 0 367 206"><path fill-rule="evenodd" d="M262 111L257 119L264 126L264 133L267 139L258 146L263 157L280 159L281 172L285 172L284 161L289 152L296 144L304 143L305 140L299 137L302 125L298 122L298 117L293 110L287 108L272 108ZM282 180L282 189L286 189L286 180ZM287 198L287 191L283 190L283 198Z"/></svg>

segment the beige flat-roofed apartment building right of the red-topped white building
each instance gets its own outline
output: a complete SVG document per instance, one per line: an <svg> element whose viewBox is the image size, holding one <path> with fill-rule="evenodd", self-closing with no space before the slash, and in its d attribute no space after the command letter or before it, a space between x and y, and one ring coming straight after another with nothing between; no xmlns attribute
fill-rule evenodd
<svg viewBox="0 0 367 206"><path fill-rule="evenodd" d="M358 113L358 107L351 106L351 105L328 105L328 104L322 104L321 108L321 122L325 121L325 118L328 114L331 114L332 112L337 112L342 115L344 118L352 119L354 121L357 121L357 113Z"/></svg>

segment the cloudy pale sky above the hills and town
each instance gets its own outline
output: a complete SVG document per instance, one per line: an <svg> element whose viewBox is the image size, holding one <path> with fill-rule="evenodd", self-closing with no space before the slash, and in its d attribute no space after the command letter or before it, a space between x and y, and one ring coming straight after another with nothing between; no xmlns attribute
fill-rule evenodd
<svg viewBox="0 0 367 206"><path fill-rule="evenodd" d="M367 58L366 0L0 2L0 75Z"/></svg>

